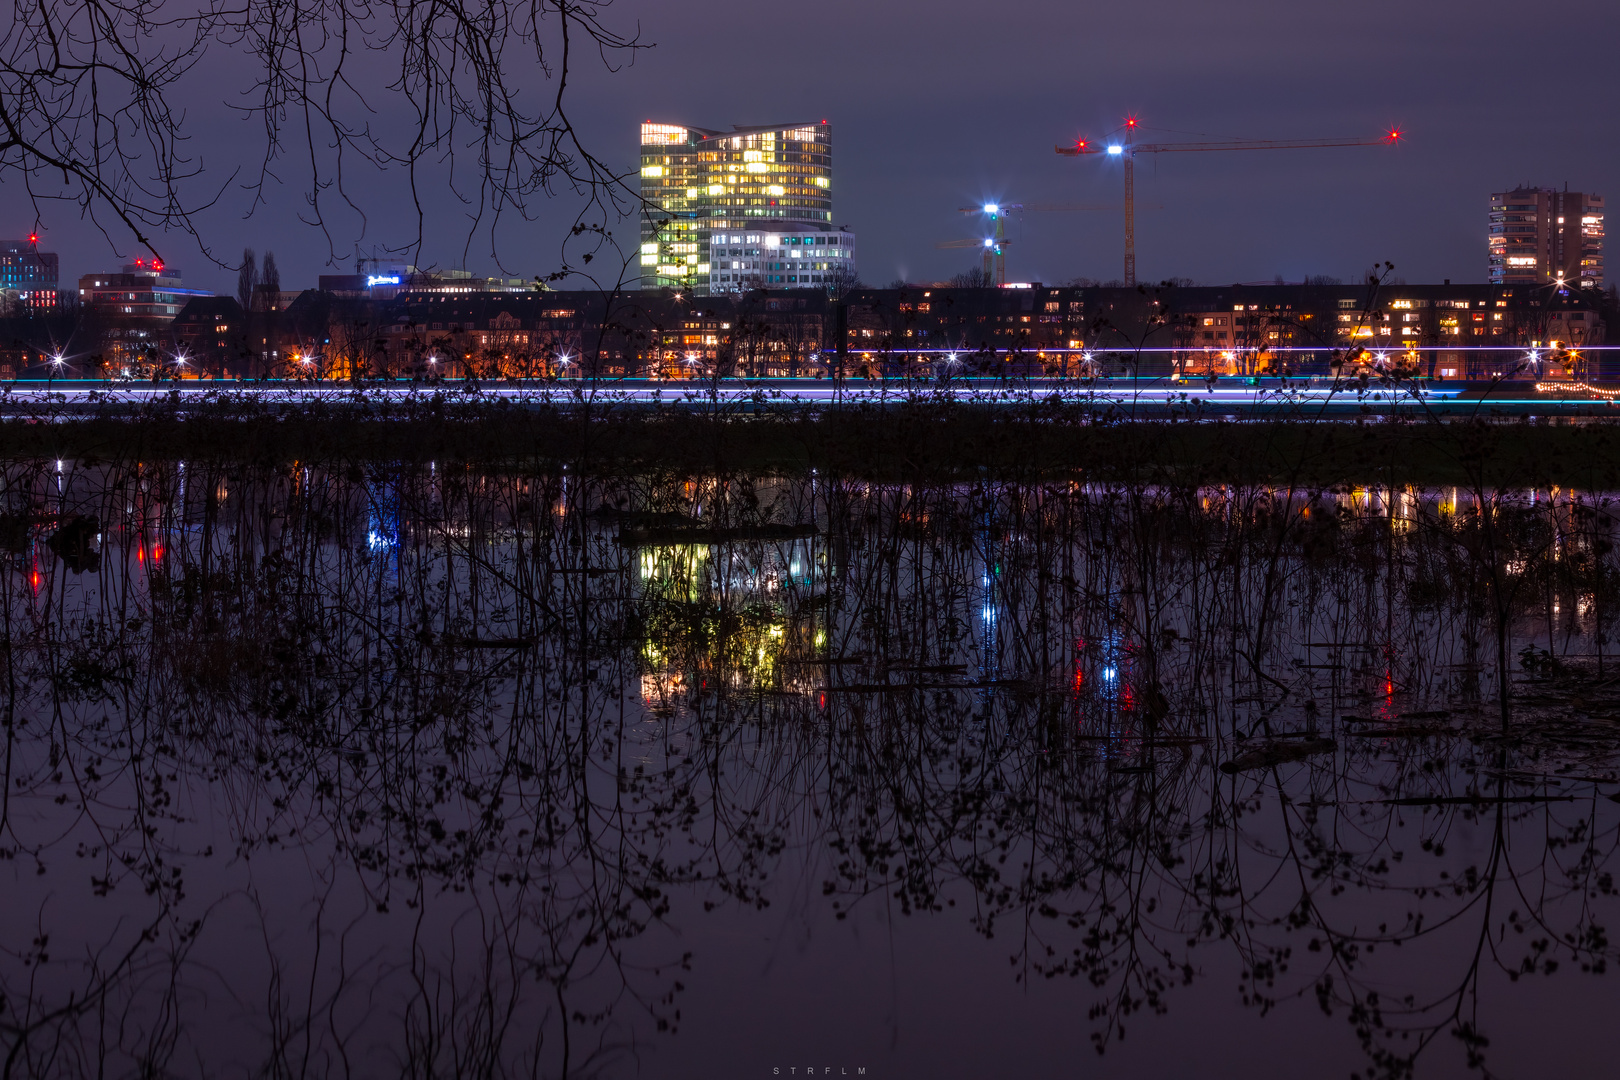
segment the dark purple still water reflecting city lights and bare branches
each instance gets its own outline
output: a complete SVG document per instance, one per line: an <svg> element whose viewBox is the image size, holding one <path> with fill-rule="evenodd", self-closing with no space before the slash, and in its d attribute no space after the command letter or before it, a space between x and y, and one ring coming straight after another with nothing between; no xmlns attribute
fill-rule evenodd
<svg viewBox="0 0 1620 1080"><path fill-rule="evenodd" d="M1602 494L3 481L5 1077L1615 1069Z"/></svg>

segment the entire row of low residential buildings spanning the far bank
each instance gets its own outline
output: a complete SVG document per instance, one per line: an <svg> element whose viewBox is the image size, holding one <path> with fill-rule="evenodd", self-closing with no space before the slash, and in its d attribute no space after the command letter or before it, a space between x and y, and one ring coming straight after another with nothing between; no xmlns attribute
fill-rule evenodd
<svg viewBox="0 0 1620 1080"><path fill-rule="evenodd" d="M1620 377L1615 293L1524 285L1231 285L488 291L387 298L305 290L193 296L175 316L65 314L21 374L214 379L570 379L1325 376L1401 368L1434 379ZM144 322L136 322L144 321ZM39 337L42 330L36 332ZM1571 351L1573 350L1573 351ZM1549 366L1565 358L1562 371ZM3 371L6 366L10 372ZM55 374L68 374L58 371Z"/></svg>

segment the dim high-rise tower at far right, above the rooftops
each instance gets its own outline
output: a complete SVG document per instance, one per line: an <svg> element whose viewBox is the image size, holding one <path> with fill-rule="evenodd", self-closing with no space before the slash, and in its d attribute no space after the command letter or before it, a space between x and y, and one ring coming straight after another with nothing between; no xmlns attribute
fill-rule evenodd
<svg viewBox="0 0 1620 1080"><path fill-rule="evenodd" d="M1602 288L1604 196L1515 188L1490 196L1490 282Z"/></svg>

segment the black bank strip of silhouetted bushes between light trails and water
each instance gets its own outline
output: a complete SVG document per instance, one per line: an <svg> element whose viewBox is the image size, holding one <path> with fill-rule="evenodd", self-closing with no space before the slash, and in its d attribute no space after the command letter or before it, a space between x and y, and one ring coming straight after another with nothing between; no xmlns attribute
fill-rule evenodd
<svg viewBox="0 0 1620 1080"><path fill-rule="evenodd" d="M1620 426L1605 421L1115 421L1079 406L957 403L823 411L407 406L144 408L0 424L8 458L467 461L601 474L667 468L868 479L1620 487ZM1482 473L1481 473L1482 470Z"/></svg>

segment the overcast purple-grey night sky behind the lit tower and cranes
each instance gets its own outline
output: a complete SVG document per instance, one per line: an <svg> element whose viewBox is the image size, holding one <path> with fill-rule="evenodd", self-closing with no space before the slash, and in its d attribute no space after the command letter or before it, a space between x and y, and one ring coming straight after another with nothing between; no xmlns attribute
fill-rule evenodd
<svg viewBox="0 0 1620 1080"><path fill-rule="evenodd" d="M1620 170L1615 5L619 0L606 19L625 29L638 21L656 47L617 73L577 73L572 108L586 142L632 170L643 118L711 128L826 118L836 217L859 233L860 274L872 285L969 269L975 253L936 249L978 235L959 206L1116 206L1118 164L1061 159L1053 144L1102 138L1126 113L1160 141L1406 131L1393 149L1142 157L1140 280L1353 280L1390 261L1409 282L1479 282L1492 189L1568 183L1615 194ZM214 57L188 97L194 149L220 181L258 151L254 125L225 108L240 70ZM379 120L399 105L379 94ZM201 219L222 257L245 244L272 248L284 288L296 288L332 272L334 251L348 269L356 243L369 249L413 235L399 170L352 173L368 220L364 228L353 215L339 220L330 248L298 223L300 176L284 175L251 217L248 196L232 189ZM5 194L5 230L24 235L31 212L15 180ZM1144 209L1153 204L1160 209ZM557 198L533 223L507 222L497 236L504 272L556 269L577 209ZM134 253L117 236L115 254L70 207L45 214L45 248L62 253L65 282ZM633 223L624 235L633 236ZM1011 280L1121 274L1116 212L1029 214L1011 236ZM185 236L168 238L165 256L188 285L233 288L233 274L211 267ZM449 194L418 261L497 272L488 232L468 241Z"/></svg>

